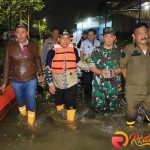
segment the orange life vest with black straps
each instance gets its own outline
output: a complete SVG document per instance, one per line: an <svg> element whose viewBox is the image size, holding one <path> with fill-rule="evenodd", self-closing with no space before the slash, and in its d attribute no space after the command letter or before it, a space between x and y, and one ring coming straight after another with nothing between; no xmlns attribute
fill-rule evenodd
<svg viewBox="0 0 150 150"><path fill-rule="evenodd" d="M52 60L52 73L76 72L76 55L73 45L63 49L60 45L54 45L55 56Z"/></svg>

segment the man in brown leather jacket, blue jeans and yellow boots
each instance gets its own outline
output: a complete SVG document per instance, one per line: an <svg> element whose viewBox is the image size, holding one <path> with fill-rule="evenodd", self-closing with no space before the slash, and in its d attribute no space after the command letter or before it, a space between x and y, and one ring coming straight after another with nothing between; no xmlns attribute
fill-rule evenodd
<svg viewBox="0 0 150 150"><path fill-rule="evenodd" d="M3 85L4 91L9 77L17 97L19 112L28 116L28 125L35 121L37 75L42 77L41 60L37 46L27 39L28 29L19 25L15 30L16 41L6 46Z"/></svg>

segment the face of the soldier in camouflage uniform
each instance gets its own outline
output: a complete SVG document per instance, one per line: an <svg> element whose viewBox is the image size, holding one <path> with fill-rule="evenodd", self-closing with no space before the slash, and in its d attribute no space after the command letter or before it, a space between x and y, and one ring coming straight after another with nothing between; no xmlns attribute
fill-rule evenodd
<svg viewBox="0 0 150 150"><path fill-rule="evenodd" d="M112 34L106 34L106 35L103 35L103 40L104 40L104 45L106 47L112 47L116 40L116 36Z"/></svg>

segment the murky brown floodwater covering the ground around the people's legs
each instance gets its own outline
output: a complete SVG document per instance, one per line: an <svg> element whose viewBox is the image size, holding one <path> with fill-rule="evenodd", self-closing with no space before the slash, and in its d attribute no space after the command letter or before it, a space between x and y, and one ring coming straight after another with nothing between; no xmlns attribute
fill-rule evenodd
<svg viewBox="0 0 150 150"><path fill-rule="evenodd" d="M149 134L150 126L143 125L140 121L134 128L126 127L123 110L113 116L86 118L84 114L88 109L81 94L78 97L76 129L70 129L63 117L57 118L54 115L57 113L53 100L38 97L37 119L32 129L27 127L26 121L19 120L16 107L0 123L0 150L115 150L111 138L116 131ZM150 146L137 147L129 144L123 149L149 150Z"/></svg>

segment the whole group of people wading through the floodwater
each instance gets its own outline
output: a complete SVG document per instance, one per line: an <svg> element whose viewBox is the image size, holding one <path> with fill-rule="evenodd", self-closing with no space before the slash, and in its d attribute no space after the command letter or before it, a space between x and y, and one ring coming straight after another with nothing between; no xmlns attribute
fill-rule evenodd
<svg viewBox="0 0 150 150"><path fill-rule="evenodd" d="M49 92L55 95L57 112L66 110L68 124L74 124L77 67L82 70L81 85L85 95L91 98L92 111L113 113L122 74L126 80L126 125L135 125L141 104L146 111L143 119L150 123L150 45L145 23L135 25L133 43L123 49L116 45L112 27L104 28L103 43L96 39L94 29L84 31L77 47L71 43L66 30L60 33L59 29L54 28L51 37L44 42L41 58L28 34L26 25L18 25L15 29L16 41L6 46L4 78L0 89L4 92L8 82L12 84L20 115L27 116L29 126L35 122L38 81L46 82ZM41 60L45 64L45 76Z"/></svg>

